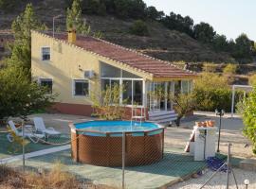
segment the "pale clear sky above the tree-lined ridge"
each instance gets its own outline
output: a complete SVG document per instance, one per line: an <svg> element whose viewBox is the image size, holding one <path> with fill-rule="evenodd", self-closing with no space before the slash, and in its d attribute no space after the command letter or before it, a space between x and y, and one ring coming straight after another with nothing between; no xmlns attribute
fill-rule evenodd
<svg viewBox="0 0 256 189"><path fill-rule="evenodd" d="M256 41L256 0L144 0L155 6L182 16L189 15L194 23L207 22L219 34L235 39L241 33Z"/></svg>

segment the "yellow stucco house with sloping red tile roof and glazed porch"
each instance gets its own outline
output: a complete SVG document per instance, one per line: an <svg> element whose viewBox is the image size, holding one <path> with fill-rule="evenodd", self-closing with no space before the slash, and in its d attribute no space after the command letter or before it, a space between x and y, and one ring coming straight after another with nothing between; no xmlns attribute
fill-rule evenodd
<svg viewBox="0 0 256 189"><path fill-rule="evenodd" d="M165 93L186 93L192 89L191 71L156 60L135 50L75 31L50 33L31 31L31 72L34 80L59 94L55 109L63 113L91 115L90 92L107 85L125 83L122 99L127 107L137 104L157 121L171 119L173 104L168 99L152 99L149 91L158 86Z"/></svg>

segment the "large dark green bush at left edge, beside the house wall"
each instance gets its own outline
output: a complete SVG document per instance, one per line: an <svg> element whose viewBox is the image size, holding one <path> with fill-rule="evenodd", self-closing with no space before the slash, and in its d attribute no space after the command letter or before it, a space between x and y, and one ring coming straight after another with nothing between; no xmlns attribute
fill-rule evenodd
<svg viewBox="0 0 256 189"><path fill-rule="evenodd" d="M27 72L19 67L0 70L0 89L0 119L3 120L9 116L26 118L28 114L46 110L56 96L31 82Z"/></svg>

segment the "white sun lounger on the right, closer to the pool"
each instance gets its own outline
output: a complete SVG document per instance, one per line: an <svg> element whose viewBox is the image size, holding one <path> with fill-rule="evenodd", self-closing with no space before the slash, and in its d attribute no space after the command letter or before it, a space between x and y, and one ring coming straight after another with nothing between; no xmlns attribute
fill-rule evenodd
<svg viewBox="0 0 256 189"><path fill-rule="evenodd" d="M33 120L35 129L39 132L42 132L46 136L46 138L49 136L56 136L61 134L61 132L57 131L54 128L46 128L45 122L42 117L34 117Z"/></svg>

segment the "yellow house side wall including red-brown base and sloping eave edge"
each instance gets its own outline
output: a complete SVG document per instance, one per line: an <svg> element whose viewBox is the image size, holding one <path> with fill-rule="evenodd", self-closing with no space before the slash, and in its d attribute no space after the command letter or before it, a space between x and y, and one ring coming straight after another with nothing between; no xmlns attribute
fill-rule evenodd
<svg viewBox="0 0 256 189"><path fill-rule="evenodd" d="M50 47L50 60L42 60L42 47ZM84 79L84 71L93 70L96 77L88 80L89 92L97 92L101 87L101 62L133 73L141 77L144 83L154 80L153 75L141 72L119 61L101 57L96 53L85 51L72 43L54 39L37 31L31 31L32 79L52 79L52 91L58 94L53 107L57 112L91 115L93 110L90 98L73 95L73 79ZM178 79L178 77L173 79ZM144 102L147 102L146 91L143 92L143 96Z"/></svg>

